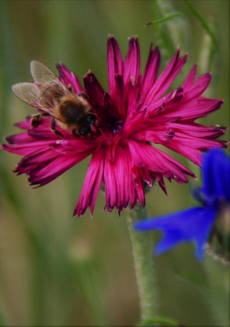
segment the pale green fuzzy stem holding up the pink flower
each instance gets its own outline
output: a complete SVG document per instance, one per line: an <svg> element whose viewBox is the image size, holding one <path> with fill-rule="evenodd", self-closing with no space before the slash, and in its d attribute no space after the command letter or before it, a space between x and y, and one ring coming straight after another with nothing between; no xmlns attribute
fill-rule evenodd
<svg viewBox="0 0 230 327"><path fill-rule="evenodd" d="M127 218L133 245L133 257L140 297L141 325L144 325L147 320L156 317L157 314L152 233L137 232L133 229L134 222L146 217L145 208L142 208L137 203L133 210L129 212Z"/></svg>

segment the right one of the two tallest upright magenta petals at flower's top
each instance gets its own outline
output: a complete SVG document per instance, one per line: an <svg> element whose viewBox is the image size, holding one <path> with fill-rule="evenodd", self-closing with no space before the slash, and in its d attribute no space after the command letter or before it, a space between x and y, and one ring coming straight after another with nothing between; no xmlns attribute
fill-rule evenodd
<svg viewBox="0 0 230 327"><path fill-rule="evenodd" d="M134 82L137 82L137 77L140 74L140 48L136 39L132 36L129 39L129 48L124 61L124 84L127 85L130 77L133 76Z"/></svg>

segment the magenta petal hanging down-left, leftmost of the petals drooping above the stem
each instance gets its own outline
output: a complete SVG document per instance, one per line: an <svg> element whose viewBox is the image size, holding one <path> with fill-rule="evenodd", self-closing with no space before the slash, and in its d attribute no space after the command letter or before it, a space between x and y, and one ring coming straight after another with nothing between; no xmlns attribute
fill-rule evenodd
<svg viewBox="0 0 230 327"><path fill-rule="evenodd" d="M93 214L97 193L102 181L104 167L104 149L94 152L90 160L85 181L81 190L80 198L74 210L74 216L83 215L89 206L91 215Z"/></svg>

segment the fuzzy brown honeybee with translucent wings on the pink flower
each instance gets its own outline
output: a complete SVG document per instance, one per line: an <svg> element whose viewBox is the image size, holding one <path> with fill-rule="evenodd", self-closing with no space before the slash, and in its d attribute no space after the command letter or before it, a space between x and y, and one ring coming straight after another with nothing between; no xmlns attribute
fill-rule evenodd
<svg viewBox="0 0 230 327"><path fill-rule="evenodd" d="M92 135L91 124L97 126L97 116L93 113L92 103L84 93L73 94L43 63L30 62L30 72L33 83L17 83L12 86L14 94L24 102L41 111L30 115L31 126L37 127L42 116L52 116L50 129L59 137L62 133L56 129L56 123L66 130L71 130L74 136Z"/></svg>

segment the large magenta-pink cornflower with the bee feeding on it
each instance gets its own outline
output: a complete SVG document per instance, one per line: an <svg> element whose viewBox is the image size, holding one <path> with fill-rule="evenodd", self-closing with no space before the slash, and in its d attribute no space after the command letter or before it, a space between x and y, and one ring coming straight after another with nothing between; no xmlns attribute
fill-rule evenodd
<svg viewBox="0 0 230 327"><path fill-rule="evenodd" d="M226 141L215 140L225 127L205 127L194 123L219 109L223 100L207 99L202 95L211 74L193 82L196 65L184 83L165 95L174 77L186 61L179 58L179 48L157 78L160 63L158 48L150 45L149 56L140 75L140 50L137 38L129 39L128 53L122 61L119 46L113 36L107 45L109 94L105 93L90 71L84 76L83 89L73 73L57 65L60 81L72 86L75 94L84 92L97 115L98 124L91 124L92 137L77 137L56 124L63 138L50 130L52 116L44 116L38 127L32 128L31 118L16 123L26 131L5 138L6 151L23 155L14 172L27 174L30 185L45 185L64 171L92 154L80 198L74 215L83 215L89 207L91 215L101 182L104 182L108 211L118 213L130 201L131 209L145 205L144 182L152 185L156 179L166 193L163 177L187 183L186 175L196 177L181 163L154 147L162 144L201 165L201 151L227 147ZM153 145L150 145L150 142ZM38 187L38 186L37 186Z"/></svg>

